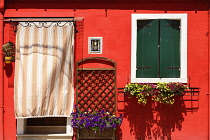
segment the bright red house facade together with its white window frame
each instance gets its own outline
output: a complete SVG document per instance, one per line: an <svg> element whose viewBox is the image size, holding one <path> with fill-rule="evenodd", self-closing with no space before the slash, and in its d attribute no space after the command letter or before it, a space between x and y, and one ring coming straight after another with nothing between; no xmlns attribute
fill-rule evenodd
<svg viewBox="0 0 210 140"><path fill-rule="evenodd" d="M210 136L209 7L208 0L172 0L170 2L165 0L91 2L87 0L1 0L0 44L16 41L15 26L13 22L10 22L11 19L72 18L76 20L77 31L74 46L75 64L89 57L105 57L114 60L116 62L116 89L118 89L129 82L142 81L142 79L134 80L135 77L132 76L133 54L136 53L132 49L136 40L134 38L136 20L181 19L183 22L180 25L180 42L181 47L184 48L180 50L182 74L178 80L169 78L169 81L164 82L184 82L189 87L199 88L200 94L190 96L191 100L185 101L184 107L183 104L177 104L172 108L156 107L153 110L137 104L134 99L127 99L124 94L121 96L117 90L116 111L117 115L123 114L123 123L117 128L116 139L208 140ZM90 37L102 39L100 53L89 52ZM3 55L1 59L0 139L15 140L18 129L14 115L15 62L7 65L3 61ZM160 79L158 78L155 82ZM150 80L144 82L154 83Z"/></svg>

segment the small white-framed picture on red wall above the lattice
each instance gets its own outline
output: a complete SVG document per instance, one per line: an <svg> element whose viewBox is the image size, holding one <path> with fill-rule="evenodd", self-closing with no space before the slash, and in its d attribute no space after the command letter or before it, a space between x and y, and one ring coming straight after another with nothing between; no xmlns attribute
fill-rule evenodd
<svg viewBox="0 0 210 140"><path fill-rule="evenodd" d="M88 38L88 53L89 54L102 54L102 37L89 37Z"/></svg>

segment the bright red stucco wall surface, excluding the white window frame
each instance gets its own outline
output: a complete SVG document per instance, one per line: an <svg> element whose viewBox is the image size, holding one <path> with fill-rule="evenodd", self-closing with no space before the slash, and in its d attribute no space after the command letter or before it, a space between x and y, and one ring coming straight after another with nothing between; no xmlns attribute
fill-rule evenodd
<svg viewBox="0 0 210 140"><path fill-rule="evenodd" d="M57 4L58 5L58 4ZM92 56L113 59L117 63L117 88L130 81L131 61L131 14L133 13L187 13L188 15L188 77L190 86L200 88L199 109L196 112L182 114L179 107L161 108L165 114L162 127L172 140L207 140L208 133L208 95L209 93L209 48L208 48L208 3L59 3L56 4L19 4L5 6L5 17L84 17L77 22L75 62ZM46 9L45 9L46 7ZM42 14L40 14L42 13ZM103 37L103 54L88 54L88 37ZM4 26L4 42L15 42L15 34L10 24ZM4 137L16 139L16 120L14 118L14 64L4 66ZM118 138L122 140L141 140L146 128L154 120L151 110L142 107L134 100L125 100L122 126L118 129ZM181 118L177 118L177 116ZM180 130L173 127L179 124ZM152 136L154 139L154 136Z"/></svg>

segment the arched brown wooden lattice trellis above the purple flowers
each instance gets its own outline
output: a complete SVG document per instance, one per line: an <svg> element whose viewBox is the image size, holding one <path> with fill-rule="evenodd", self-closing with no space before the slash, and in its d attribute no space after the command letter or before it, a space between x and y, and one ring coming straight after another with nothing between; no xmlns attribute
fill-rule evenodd
<svg viewBox="0 0 210 140"><path fill-rule="evenodd" d="M115 62L90 57L77 62L76 102L80 110L116 111Z"/></svg>

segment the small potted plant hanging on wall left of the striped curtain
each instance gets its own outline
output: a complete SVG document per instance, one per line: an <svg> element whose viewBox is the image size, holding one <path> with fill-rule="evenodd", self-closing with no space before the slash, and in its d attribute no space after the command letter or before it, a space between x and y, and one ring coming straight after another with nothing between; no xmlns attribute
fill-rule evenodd
<svg viewBox="0 0 210 140"><path fill-rule="evenodd" d="M6 44L2 45L2 50L4 52L4 60L6 64L9 64L14 60L14 46L15 44L12 42L7 42Z"/></svg>

